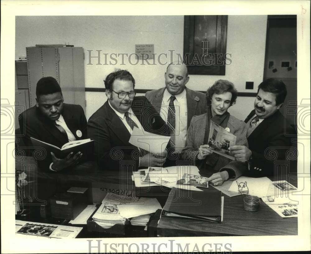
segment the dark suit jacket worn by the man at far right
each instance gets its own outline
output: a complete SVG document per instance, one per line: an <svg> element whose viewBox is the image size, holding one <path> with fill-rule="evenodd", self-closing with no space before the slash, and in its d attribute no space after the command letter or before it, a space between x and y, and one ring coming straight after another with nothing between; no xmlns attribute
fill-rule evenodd
<svg viewBox="0 0 311 254"><path fill-rule="evenodd" d="M247 123L255 114L253 110L245 119ZM286 132L285 132L286 131ZM285 133L293 133L280 111L263 120L249 135L248 148L252 151L250 170L246 175L267 176L274 174L276 160L284 160L291 140Z"/></svg>

